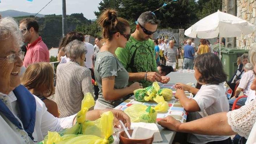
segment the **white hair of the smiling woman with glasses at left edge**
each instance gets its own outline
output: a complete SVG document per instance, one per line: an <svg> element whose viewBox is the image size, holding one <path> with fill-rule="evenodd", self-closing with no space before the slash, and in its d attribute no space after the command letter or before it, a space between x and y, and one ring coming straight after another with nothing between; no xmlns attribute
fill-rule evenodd
<svg viewBox="0 0 256 144"><path fill-rule="evenodd" d="M19 30L18 23L11 17L5 17L0 19L0 40L2 41L10 38L13 38L13 42L19 47L24 44L23 35Z"/></svg>

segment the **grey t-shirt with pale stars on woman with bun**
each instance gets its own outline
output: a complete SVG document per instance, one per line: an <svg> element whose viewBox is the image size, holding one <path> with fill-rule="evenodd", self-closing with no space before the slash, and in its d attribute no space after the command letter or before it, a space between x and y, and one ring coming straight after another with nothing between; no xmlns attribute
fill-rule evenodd
<svg viewBox="0 0 256 144"><path fill-rule="evenodd" d="M128 86L129 74L120 61L109 51L97 54L94 75L99 86L99 102L107 106L116 107L131 95L127 95L118 100L106 101L102 95L102 79L115 76L115 89L126 88Z"/></svg>

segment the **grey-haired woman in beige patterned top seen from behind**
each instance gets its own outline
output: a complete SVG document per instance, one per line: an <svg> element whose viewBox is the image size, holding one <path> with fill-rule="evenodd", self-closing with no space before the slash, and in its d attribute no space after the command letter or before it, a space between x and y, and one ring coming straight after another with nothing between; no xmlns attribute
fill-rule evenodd
<svg viewBox="0 0 256 144"><path fill-rule="evenodd" d="M86 93L93 95L91 71L84 66L86 53L84 42L73 40L65 47L65 55L70 61L57 66L54 101L60 118L77 113Z"/></svg>

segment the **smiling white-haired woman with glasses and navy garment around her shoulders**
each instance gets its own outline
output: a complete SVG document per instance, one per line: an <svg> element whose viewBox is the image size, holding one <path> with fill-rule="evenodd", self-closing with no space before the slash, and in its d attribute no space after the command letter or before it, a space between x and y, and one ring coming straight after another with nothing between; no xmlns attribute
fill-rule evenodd
<svg viewBox="0 0 256 144"><path fill-rule="evenodd" d="M76 115L55 118L38 97L32 95L20 83L20 68L23 65L22 33L13 18L0 19L0 139L1 143L40 142L47 131L60 131L71 127ZM111 110L117 119L130 125L128 115ZM86 113L86 119L95 120L104 111ZM116 120L117 120L116 119Z"/></svg>

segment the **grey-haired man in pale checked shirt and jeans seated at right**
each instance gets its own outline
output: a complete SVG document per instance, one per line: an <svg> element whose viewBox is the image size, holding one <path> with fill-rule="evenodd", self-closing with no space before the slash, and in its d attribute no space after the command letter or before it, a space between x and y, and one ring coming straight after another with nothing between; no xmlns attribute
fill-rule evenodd
<svg viewBox="0 0 256 144"><path fill-rule="evenodd" d="M244 71L245 73L243 74L240 80L240 83L235 91L234 97L228 100L230 111L232 109L234 101L236 100L235 98L239 96L242 90L243 90L243 95L246 95L246 96L249 95L250 86L252 85L253 80L255 78L255 72L253 71L253 65L251 63L247 63L244 66ZM246 97L239 99L237 102L237 105L239 106L245 105L246 99L247 99Z"/></svg>

